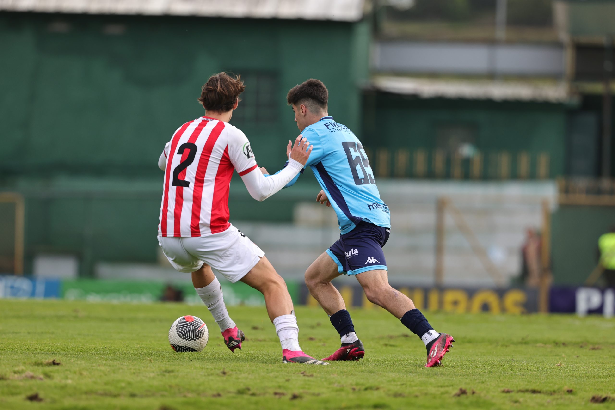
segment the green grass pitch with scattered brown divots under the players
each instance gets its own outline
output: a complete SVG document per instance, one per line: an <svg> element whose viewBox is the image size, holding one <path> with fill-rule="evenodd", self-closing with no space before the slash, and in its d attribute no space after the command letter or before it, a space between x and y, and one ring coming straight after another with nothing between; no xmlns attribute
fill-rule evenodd
<svg viewBox="0 0 615 410"><path fill-rule="evenodd" d="M351 312L365 359L330 366L281 363L264 307L229 311L247 336L234 354L204 306L0 300L0 409L615 408L612 319L429 313L456 342L426 369L423 343L379 308ZM322 310L296 313L306 352L338 347ZM169 347L181 315L207 323L203 352Z"/></svg>

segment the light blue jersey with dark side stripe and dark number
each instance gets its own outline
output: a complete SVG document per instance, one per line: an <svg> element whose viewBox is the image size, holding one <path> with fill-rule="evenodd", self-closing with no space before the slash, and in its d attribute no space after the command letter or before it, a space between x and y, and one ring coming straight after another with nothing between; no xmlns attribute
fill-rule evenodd
<svg viewBox="0 0 615 410"><path fill-rule="evenodd" d="M370 162L354 133L333 117L322 117L301 134L314 146L306 167L312 168L327 193L338 215L340 233L347 234L360 221L390 228L389 207L380 199Z"/></svg>

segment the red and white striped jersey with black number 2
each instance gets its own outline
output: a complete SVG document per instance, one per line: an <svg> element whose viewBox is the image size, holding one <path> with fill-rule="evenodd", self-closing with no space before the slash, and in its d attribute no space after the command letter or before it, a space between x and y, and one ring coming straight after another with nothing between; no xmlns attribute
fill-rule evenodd
<svg viewBox="0 0 615 410"><path fill-rule="evenodd" d="M229 185L256 160L236 127L208 117L186 122L165 146L164 193L158 234L198 237L229 227Z"/></svg>

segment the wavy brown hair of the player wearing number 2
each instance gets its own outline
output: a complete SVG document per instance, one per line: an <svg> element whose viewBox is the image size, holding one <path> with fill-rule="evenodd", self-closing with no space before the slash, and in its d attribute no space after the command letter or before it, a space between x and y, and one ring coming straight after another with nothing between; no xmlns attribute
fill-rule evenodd
<svg viewBox="0 0 615 410"><path fill-rule="evenodd" d="M245 85L241 81L241 76L229 76L229 74L218 73L209 77L207 82L201 87L199 103L207 111L226 112L231 111L239 94L244 92ZM241 101L241 99L239 99Z"/></svg>

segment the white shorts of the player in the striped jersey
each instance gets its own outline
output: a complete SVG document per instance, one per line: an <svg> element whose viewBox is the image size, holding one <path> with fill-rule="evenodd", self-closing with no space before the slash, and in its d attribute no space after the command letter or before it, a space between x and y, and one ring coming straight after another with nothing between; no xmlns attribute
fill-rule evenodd
<svg viewBox="0 0 615 410"><path fill-rule="evenodd" d="M194 272L208 264L235 283L256 266L264 252L236 227L199 237L161 237L158 243L179 272Z"/></svg>

